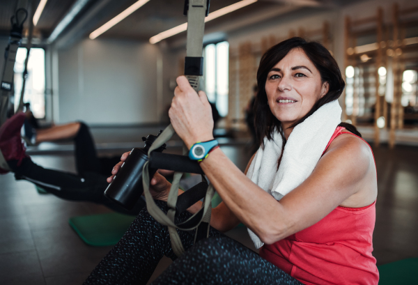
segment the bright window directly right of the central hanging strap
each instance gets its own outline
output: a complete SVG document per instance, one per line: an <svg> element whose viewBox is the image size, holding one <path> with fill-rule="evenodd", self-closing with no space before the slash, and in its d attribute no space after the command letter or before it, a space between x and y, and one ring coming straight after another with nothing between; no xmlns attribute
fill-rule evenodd
<svg viewBox="0 0 418 285"><path fill-rule="evenodd" d="M219 115L228 114L229 43L205 47L205 89L208 100L214 102Z"/></svg>

